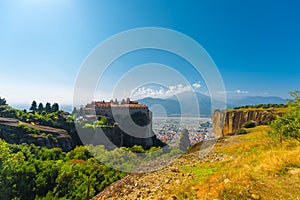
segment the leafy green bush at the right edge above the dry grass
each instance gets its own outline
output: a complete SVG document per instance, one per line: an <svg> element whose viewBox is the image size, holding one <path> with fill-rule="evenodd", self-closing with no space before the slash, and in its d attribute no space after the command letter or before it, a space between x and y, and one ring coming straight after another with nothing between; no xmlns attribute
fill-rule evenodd
<svg viewBox="0 0 300 200"><path fill-rule="evenodd" d="M290 92L294 98L288 102L291 112L285 113L271 123L271 133L279 136L280 142L284 137L300 140L300 92Z"/></svg>

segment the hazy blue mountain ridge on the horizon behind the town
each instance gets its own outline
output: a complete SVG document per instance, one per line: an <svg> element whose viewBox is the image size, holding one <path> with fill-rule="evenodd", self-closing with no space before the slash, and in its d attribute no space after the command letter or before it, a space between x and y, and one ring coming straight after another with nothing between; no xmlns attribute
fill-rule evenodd
<svg viewBox="0 0 300 200"><path fill-rule="evenodd" d="M155 116L199 116L210 117L211 98L198 92L183 92L177 96L166 99L146 97L138 100L146 104ZM198 102L198 103L197 103ZM257 104L285 104L286 100L280 97L270 96L248 96L240 99L229 99L226 108L236 106L257 105ZM159 106L157 106L159 105ZM224 103L215 100L215 109L225 108Z"/></svg>

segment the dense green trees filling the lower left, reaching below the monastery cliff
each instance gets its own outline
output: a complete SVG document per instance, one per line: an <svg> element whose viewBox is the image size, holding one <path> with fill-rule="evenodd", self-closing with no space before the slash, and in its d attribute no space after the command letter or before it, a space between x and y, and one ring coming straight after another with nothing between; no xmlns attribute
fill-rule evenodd
<svg viewBox="0 0 300 200"><path fill-rule="evenodd" d="M179 148L141 146L108 151L103 145L77 146L66 153L0 140L0 199L86 199L88 185L93 197L141 164L181 153Z"/></svg>

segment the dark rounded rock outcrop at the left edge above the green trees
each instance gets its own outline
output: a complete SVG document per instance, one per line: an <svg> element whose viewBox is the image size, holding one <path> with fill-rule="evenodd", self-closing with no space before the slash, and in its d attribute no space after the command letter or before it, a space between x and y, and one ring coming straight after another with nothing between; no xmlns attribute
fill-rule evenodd
<svg viewBox="0 0 300 200"><path fill-rule="evenodd" d="M18 127L19 124L38 129L39 133L28 134ZM11 118L0 118L0 138L8 143L27 143L48 148L59 147L63 151L70 151L75 146L66 130L27 124Z"/></svg>

